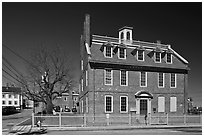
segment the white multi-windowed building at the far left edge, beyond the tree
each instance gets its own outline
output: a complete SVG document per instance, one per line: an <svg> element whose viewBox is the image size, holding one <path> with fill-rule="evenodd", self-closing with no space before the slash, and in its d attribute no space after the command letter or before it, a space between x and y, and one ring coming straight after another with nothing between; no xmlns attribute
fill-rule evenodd
<svg viewBox="0 0 204 137"><path fill-rule="evenodd" d="M16 108L22 108L22 95L21 88L18 87L2 87L2 107L15 106Z"/></svg>

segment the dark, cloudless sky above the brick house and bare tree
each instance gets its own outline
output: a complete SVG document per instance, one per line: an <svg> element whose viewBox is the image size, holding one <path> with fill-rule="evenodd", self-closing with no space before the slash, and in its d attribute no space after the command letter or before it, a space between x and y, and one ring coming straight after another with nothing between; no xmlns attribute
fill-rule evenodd
<svg viewBox="0 0 204 137"><path fill-rule="evenodd" d="M202 105L202 3L71 3L3 2L2 43L29 58L34 47L59 44L72 60L75 80L80 72L80 35L85 14L91 17L91 33L118 37L118 29L133 27L133 39L171 47L189 62L188 96ZM20 72L25 62L2 47L2 55ZM4 63L4 61L2 60ZM4 65L2 65L4 68ZM7 78L5 78L7 77ZM9 80L8 80L9 78ZM14 81L2 72L2 85Z"/></svg>

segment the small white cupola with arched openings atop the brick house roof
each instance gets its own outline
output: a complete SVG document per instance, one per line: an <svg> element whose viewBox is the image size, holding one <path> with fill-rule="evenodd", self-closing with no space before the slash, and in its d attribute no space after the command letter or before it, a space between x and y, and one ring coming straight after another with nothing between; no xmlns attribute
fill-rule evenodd
<svg viewBox="0 0 204 137"><path fill-rule="evenodd" d="M133 27L124 26L119 29L119 42L124 44L132 43L132 30Z"/></svg>

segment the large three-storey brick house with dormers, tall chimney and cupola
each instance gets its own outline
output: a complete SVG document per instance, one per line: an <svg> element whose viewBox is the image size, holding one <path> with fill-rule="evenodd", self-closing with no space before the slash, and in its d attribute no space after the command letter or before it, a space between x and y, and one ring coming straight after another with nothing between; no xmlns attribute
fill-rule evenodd
<svg viewBox="0 0 204 137"><path fill-rule="evenodd" d="M118 37L81 37L80 112L183 114L187 111L188 62L170 45L135 41L133 28Z"/></svg>

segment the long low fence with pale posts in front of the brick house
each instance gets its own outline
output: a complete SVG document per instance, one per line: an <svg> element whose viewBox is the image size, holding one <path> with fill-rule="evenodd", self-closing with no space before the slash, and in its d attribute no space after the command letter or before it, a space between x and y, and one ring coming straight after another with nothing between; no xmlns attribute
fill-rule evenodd
<svg viewBox="0 0 204 137"><path fill-rule="evenodd" d="M202 115L149 115L146 120L142 115L131 114L66 114L34 115L32 125L42 121L42 126L77 127L77 126L110 126L110 125L187 125L202 124Z"/></svg>

